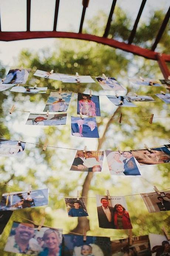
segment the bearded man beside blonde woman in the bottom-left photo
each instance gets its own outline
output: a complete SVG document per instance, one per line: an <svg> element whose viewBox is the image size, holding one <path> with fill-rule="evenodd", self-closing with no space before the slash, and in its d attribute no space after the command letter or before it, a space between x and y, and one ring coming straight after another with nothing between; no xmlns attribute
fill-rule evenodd
<svg viewBox="0 0 170 256"><path fill-rule="evenodd" d="M4 251L37 255L42 251L37 241L33 239L34 225L20 223L15 229L15 235L9 236ZM31 240L31 241L30 241ZM35 241L34 241L35 240Z"/></svg>

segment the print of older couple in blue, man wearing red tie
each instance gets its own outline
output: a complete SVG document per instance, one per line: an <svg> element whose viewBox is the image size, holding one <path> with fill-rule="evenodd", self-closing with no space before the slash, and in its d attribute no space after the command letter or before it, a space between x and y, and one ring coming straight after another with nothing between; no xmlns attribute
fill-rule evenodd
<svg viewBox="0 0 170 256"><path fill-rule="evenodd" d="M96 119L71 116L71 134L76 137L99 138Z"/></svg>

